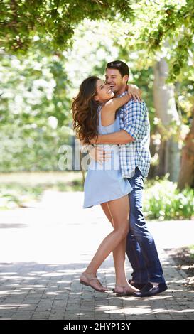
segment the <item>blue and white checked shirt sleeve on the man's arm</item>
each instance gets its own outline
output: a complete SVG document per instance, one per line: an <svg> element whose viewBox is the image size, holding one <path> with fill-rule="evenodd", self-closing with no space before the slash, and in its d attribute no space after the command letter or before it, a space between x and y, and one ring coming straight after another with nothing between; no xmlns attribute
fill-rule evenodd
<svg viewBox="0 0 194 334"><path fill-rule="evenodd" d="M146 113L146 105L144 102L129 102L126 106L124 117L124 128L128 134L134 139L139 137L141 129L144 126Z"/></svg>

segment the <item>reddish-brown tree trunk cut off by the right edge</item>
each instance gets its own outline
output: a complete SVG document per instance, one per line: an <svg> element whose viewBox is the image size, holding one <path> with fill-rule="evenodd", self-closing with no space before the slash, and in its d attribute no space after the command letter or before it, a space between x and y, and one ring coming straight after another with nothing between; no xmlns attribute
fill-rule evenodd
<svg viewBox="0 0 194 334"><path fill-rule="evenodd" d="M185 139L178 177L178 188L182 190L186 186L194 188L194 117L190 132Z"/></svg>

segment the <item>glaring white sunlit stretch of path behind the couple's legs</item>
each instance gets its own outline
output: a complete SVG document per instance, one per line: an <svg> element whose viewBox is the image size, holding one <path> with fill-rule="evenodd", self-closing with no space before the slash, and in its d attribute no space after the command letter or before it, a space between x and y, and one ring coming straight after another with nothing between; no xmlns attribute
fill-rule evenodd
<svg viewBox="0 0 194 334"><path fill-rule="evenodd" d="M0 262L89 261L112 230L100 206L82 209L83 193L45 191L33 208L0 212ZM193 221L149 222L158 249L193 243Z"/></svg>

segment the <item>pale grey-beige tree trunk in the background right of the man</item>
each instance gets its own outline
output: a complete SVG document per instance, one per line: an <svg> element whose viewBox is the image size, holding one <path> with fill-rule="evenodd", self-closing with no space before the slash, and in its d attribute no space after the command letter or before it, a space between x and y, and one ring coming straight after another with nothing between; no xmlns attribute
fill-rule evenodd
<svg viewBox="0 0 194 334"><path fill-rule="evenodd" d="M174 87L172 84L166 84L168 77L168 64L164 58L154 66L154 82L153 82L153 99L156 107L156 115L161 119L163 126L168 126L172 121L180 122L178 112L176 109L176 102L174 97ZM161 132L162 131L159 129ZM159 173L169 173L171 181L178 181L178 172L180 168L180 150L178 149L178 142L171 137L167 141L162 138L161 153L159 156L160 165L158 167Z"/></svg>

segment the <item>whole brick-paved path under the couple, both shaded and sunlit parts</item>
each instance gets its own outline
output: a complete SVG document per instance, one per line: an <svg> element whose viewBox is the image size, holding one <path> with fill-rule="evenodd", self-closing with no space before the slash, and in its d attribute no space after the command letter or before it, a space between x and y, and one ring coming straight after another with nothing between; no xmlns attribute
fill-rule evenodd
<svg viewBox="0 0 194 334"><path fill-rule="evenodd" d="M111 231L101 208L82 210L82 193L45 192L31 208L0 212L0 318L194 319L194 291L163 250L193 243L194 222L149 222L168 283L152 298L118 298L79 283L80 273ZM131 267L127 264L127 272ZM114 286L112 256L99 279Z"/></svg>

